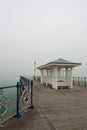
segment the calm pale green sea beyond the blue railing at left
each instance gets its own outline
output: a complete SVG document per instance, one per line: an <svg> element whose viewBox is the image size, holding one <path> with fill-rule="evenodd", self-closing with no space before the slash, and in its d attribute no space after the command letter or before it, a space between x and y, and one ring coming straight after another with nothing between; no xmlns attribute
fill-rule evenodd
<svg viewBox="0 0 87 130"><path fill-rule="evenodd" d="M32 76L24 76L28 79L32 79ZM15 100L17 96L17 82L20 81L20 76L0 76L0 88L15 86L13 88L0 89L0 93L5 96L8 100Z"/></svg>

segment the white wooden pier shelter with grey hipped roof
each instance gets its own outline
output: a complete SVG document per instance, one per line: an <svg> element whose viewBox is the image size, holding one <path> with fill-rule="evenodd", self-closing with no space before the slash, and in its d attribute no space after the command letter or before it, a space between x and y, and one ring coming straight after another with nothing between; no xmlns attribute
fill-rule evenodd
<svg viewBox="0 0 87 130"><path fill-rule="evenodd" d="M41 71L41 83L51 84L52 88L73 88L72 68L81 65L59 58L45 65L37 67Z"/></svg>

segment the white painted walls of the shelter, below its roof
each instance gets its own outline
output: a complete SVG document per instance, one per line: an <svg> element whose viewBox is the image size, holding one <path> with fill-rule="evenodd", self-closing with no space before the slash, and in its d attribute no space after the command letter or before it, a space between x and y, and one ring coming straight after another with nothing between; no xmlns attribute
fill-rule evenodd
<svg viewBox="0 0 87 130"><path fill-rule="evenodd" d="M57 67L51 70L41 70L41 83L52 84L55 89L58 89L58 86L69 86L72 89L72 68L66 69L66 74L64 75L65 77L61 75L61 69Z"/></svg>

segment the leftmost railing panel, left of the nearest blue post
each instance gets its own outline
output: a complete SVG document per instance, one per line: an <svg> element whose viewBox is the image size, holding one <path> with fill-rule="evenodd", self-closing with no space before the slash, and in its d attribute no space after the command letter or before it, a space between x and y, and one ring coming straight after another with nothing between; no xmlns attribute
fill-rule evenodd
<svg viewBox="0 0 87 130"><path fill-rule="evenodd" d="M0 124L16 114L16 86L0 89Z"/></svg>

